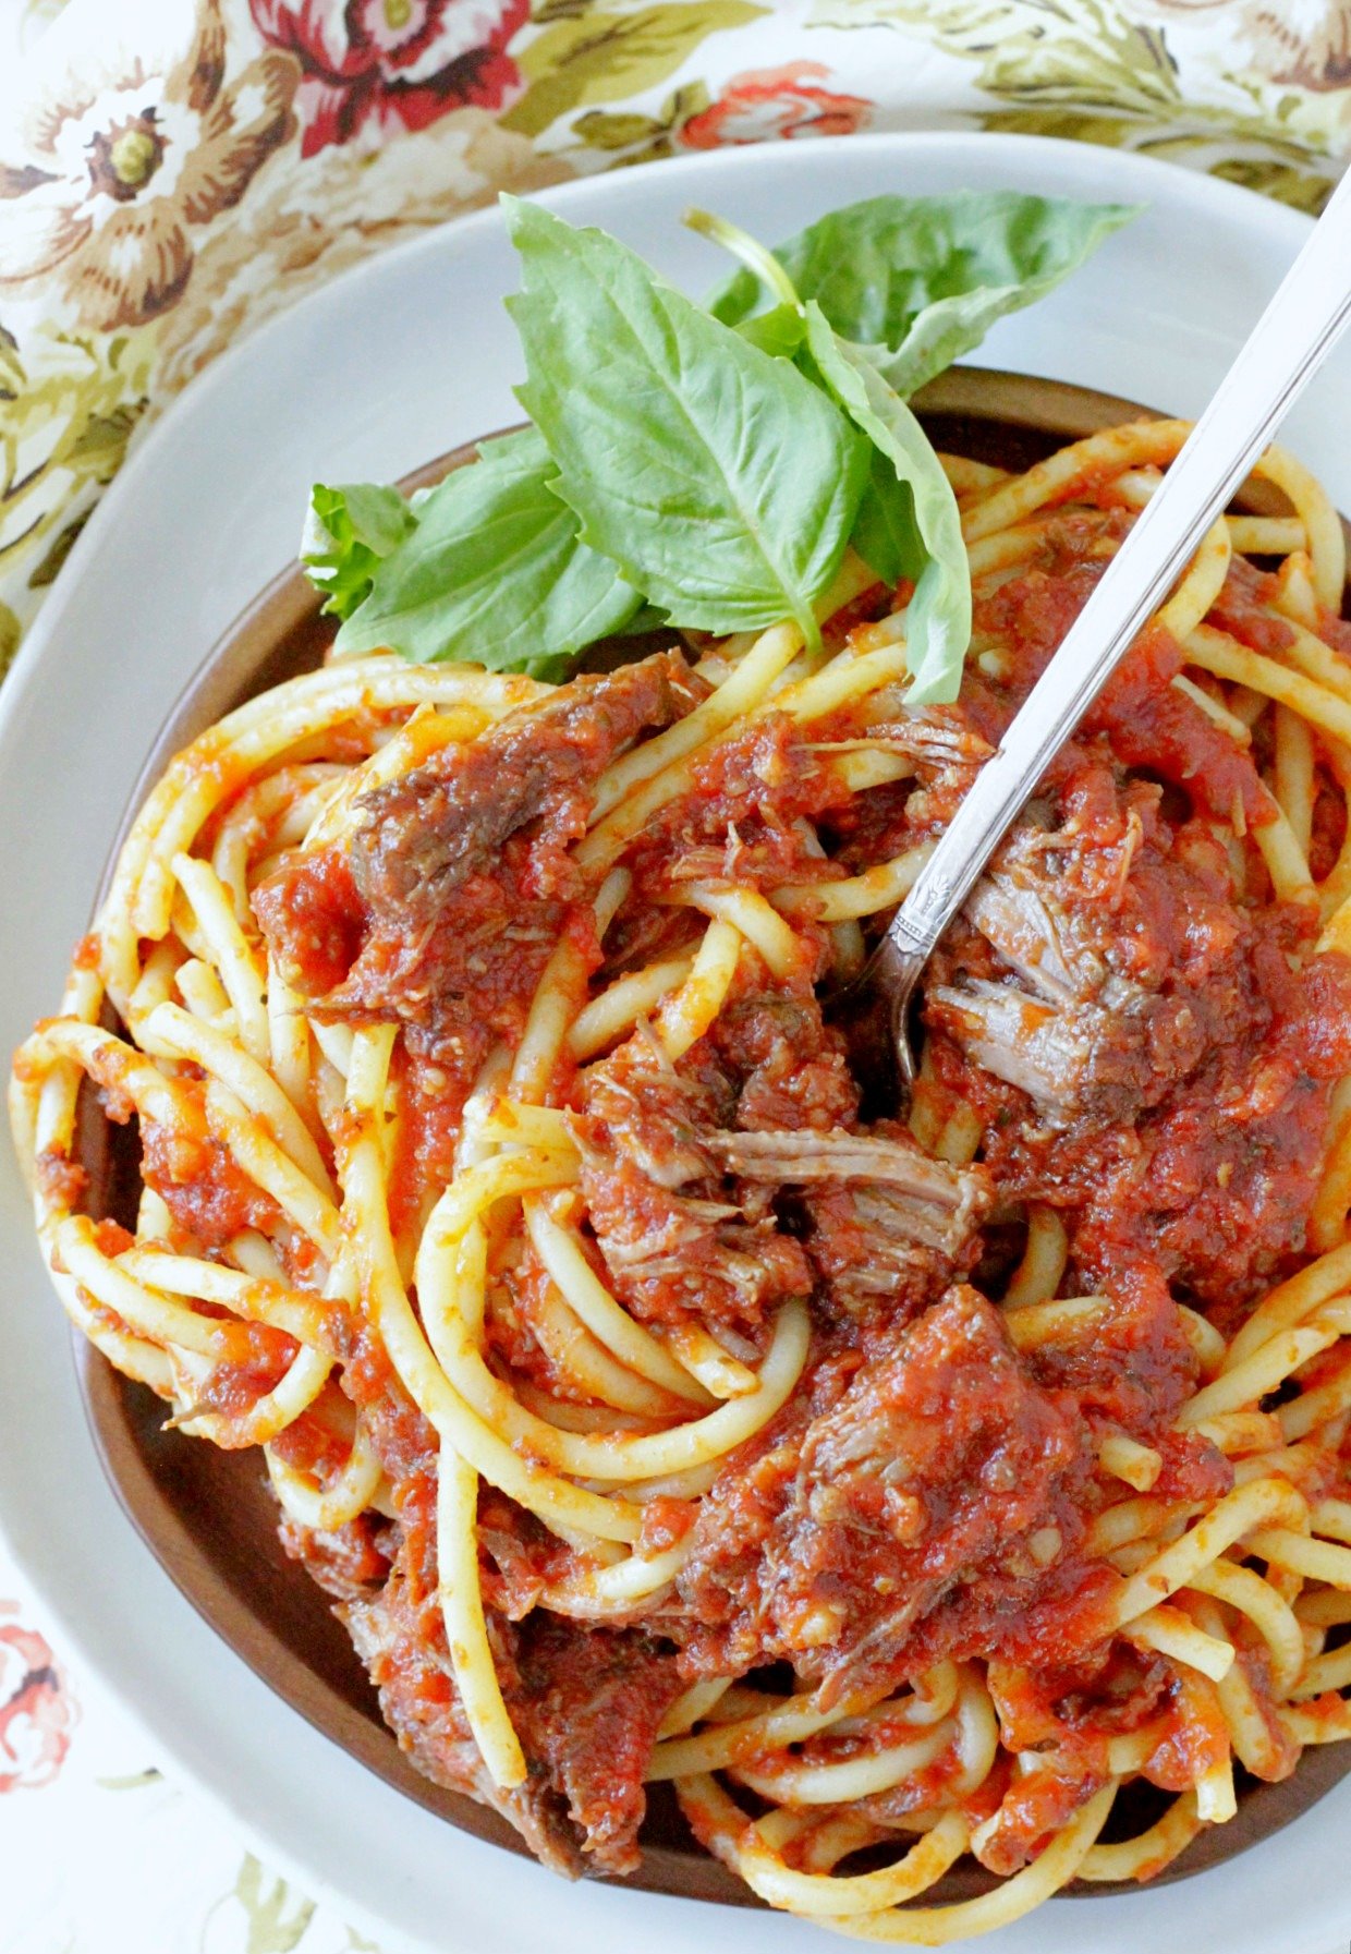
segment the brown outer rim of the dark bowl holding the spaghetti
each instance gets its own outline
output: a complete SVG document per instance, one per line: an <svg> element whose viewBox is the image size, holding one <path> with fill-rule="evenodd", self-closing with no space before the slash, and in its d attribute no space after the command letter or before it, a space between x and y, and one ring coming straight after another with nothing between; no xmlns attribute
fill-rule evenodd
<svg viewBox="0 0 1351 1954"><path fill-rule="evenodd" d="M1002 430L1023 430L1039 438L1060 436L1064 440L1078 440L1084 434L1115 426L1123 420L1160 418L1152 408L1134 401L1076 387L1066 381L961 365L951 367L939 379L931 381L916 397L914 406L921 416L957 416L994 424ZM490 440L490 436L480 436L478 440ZM404 490L428 487L453 469L471 465L476 459L476 451L478 442L467 442L406 475L400 487ZM1273 500L1273 492L1261 485L1248 485L1244 500L1248 506L1265 510L1283 506L1281 498ZM322 635L324 631L318 625L318 598L295 565L269 578L258 596L221 633L180 692L137 776L117 838L107 854L94 905L96 911L111 879L127 828L174 752L228 709L242 703L244 698L254 696L266 684L273 682L267 678L266 668L269 660L275 662L279 651L285 655L287 647L308 645L310 641L318 647ZM105 1153L107 1149L103 1149ZM146 1405L158 1405L158 1399L152 1399L143 1385L121 1378L78 1333L72 1333L72 1348L86 1421L113 1493L146 1548L197 1614L248 1663L254 1675L267 1682L314 1729L342 1745L344 1751L359 1759L359 1763L377 1772L396 1792L439 1813L472 1837L529 1856L529 1848L513 1827L496 1811L433 1784L416 1770L398 1749L389 1727L379 1720L377 1710L375 1714L359 1710L332 1680L322 1677L295 1647L283 1641L264 1614L242 1600L211 1557L207 1548L209 1536L187 1524L184 1512L170 1497L174 1475L156 1473L143 1450L148 1428ZM174 1448L182 1448L201 1442L172 1434L172 1444ZM236 1454L234 1458L252 1458L252 1454ZM328 1610L328 1598L318 1587L312 1587L312 1604L316 1618ZM1351 1770L1351 1743L1306 1749L1290 1778L1283 1784L1251 1784L1246 1788L1240 1796L1238 1817L1228 1825L1203 1831L1181 1858L1160 1874L1156 1884L1193 1878L1271 1837L1314 1805L1347 1770ZM672 1825L672 1809L674 1802L668 1798L662 1815L664 1833L677 1831ZM691 1899L761 1905L734 1874L726 1872L693 1841L687 1845L670 1843L666 1837L648 1841L646 1831L642 1868L623 1884ZM970 1862L959 1862L959 1868L939 1888L925 1893L925 1903L933 1899L964 1899L978 1891L988 1891L994 1884L998 1882L980 1868L972 1868ZM1080 1884L1072 1886L1068 1895L1091 1899L1123 1891L1138 1891L1136 1882Z"/></svg>

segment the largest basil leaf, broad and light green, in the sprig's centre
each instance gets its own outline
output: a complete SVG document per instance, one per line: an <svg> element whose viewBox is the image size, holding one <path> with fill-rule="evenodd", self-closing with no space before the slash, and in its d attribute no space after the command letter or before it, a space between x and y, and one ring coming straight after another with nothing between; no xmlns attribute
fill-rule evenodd
<svg viewBox="0 0 1351 1954"><path fill-rule="evenodd" d="M582 539L676 625L795 617L816 641L812 606L849 539L867 446L787 360L615 238L502 203L523 272L508 301L529 373L517 399Z"/></svg>

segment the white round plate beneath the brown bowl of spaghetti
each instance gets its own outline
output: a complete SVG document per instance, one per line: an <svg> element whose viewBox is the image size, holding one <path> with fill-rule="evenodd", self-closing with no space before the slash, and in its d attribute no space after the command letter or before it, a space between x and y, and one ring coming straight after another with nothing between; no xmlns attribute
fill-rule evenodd
<svg viewBox="0 0 1351 1954"><path fill-rule="evenodd" d="M1019 188L1144 201L1054 297L1000 324L982 358L1195 412L1306 221L1248 191L1111 150L1027 137L849 137L732 150L590 178L547 201L605 225L693 291L724 270L685 205L777 240L882 190ZM55 1008L68 950L143 754L184 680L293 549L308 485L385 481L517 418L500 299L513 254L496 211L371 260L199 379L135 449L80 537L0 696L0 1043ZM1289 440L1351 506L1351 360ZM615 1888L566 1888L465 1839L316 1735L176 1594L103 1485L68 1337L0 1149L0 1512L72 1647L191 1776L314 1893L390 1942L551 1954L621 1938L644 1954L824 1946L771 1913ZM1351 1782L1224 1868L1121 1899L1054 1901L1000 1954L1331 1954L1351 1933Z"/></svg>

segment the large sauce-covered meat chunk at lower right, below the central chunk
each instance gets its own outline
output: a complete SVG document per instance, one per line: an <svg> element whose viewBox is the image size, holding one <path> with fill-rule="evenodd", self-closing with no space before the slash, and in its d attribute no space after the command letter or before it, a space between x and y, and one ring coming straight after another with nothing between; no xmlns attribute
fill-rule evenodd
<svg viewBox="0 0 1351 1954"><path fill-rule="evenodd" d="M722 1469L679 1593L691 1669L787 1659L822 1702L875 1702L925 1663L1000 1649L1066 1587L1091 1460L1000 1313L955 1288L810 1423L779 1423ZM1091 1622L1078 1630L1091 1641Z"/></svg>

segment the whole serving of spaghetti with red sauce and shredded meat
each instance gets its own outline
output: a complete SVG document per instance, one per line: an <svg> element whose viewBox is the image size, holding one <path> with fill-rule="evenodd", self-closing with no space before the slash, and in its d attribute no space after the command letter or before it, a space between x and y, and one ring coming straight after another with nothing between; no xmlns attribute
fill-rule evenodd
<svg viewBox="0 0 1351 1954"><path fill-rule="evenodd" d="M1304 469L949 932L906 1127L818 1002L1185 434L953 463L955 707L902 703L857 559L818 651L264 694L18 1053L72 1319L264 1446L400 1741L560 1870L631 1870L674 1782L769 1905L943 1944L1351 1731L1351 631ZM86 1081L135 1225L82 1211ZM962 1854L998 1884L925 1901Z"/></svg>

